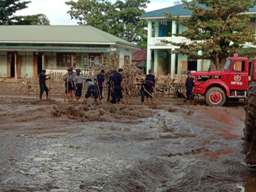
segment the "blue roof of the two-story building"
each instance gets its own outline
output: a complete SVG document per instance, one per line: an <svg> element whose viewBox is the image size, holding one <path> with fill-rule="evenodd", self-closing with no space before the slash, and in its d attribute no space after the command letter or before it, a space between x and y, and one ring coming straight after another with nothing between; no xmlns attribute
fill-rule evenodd
<svg viewBox="0 0 256 192"><path fill-rule="evenodd" d="M206 6L204 5L201 5L201 6L203 7L203 9L206 8ZM170 6L170 7L166 7L164 9L159 9L156 11L149 11L144 15L142 15L140 18L164 17L165 16L164 12L172 14L173 16L191 16L192 11L188 9L184 9L183 7L184 7L184 4L180 4L177 6ZM249 9L248 12L256 12L256 6Z"/></svg>

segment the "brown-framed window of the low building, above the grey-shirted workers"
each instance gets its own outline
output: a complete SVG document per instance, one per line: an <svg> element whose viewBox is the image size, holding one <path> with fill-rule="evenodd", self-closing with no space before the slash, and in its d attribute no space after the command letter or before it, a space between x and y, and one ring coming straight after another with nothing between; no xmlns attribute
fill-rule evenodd
<svg viewBox="0 0 256 192"><path fill-rule="evenodd" d="M75 68L75 54L73 53L73 66L72 66L72 53L57 53L57 68Z"/></svg>

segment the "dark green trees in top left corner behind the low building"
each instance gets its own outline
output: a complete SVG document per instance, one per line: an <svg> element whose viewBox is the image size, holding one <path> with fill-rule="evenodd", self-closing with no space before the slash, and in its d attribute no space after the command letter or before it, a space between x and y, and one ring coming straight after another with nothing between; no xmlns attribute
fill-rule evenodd
<svg viewBox="0 0 256 192"><path fill-rule="evenodd" d="M14 16L16 11L28 8L31 1L0 0L0 25L49 25L44 14L31 16Z"/></svg>

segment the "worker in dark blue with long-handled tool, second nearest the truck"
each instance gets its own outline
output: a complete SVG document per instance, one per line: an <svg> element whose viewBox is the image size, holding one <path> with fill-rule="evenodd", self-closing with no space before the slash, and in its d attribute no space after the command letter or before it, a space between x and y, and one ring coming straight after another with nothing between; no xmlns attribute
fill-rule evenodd
<svg viewBox="0 0 256 192"><path fill-rule="evenodd" d="M153 104L154 97L154 84L155 80L145 80L142 82L142 105L144 105L144 97L146 96L146 104L149 104L149 97L151 99L151 103ZM153 97L152 97L153 96Z"/></svg>

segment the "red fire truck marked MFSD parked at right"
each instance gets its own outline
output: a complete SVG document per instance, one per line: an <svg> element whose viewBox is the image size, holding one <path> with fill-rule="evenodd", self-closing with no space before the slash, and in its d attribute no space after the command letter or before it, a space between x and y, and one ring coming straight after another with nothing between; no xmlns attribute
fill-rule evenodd
<svg viewBox="0 0 256 192"><path fill-rule="evenodd" d="M256 60L240 58L234 51L222 70L192 73L194 93L204 95L207 105L223 106L227 100L245 99L250 82L256 81Z"/></svg>

